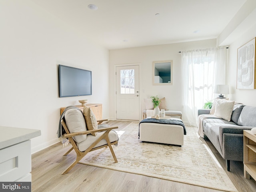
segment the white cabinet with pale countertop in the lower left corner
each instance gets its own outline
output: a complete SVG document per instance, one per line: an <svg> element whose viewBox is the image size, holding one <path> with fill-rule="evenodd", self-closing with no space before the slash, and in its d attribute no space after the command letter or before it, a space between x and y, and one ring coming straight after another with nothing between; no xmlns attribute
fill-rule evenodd
<svg viewBox="0 0 256 192"><path fill-rule="evenodd" d="M0 181L31 182L31 141L40 130L0 126Z"/></svg>

